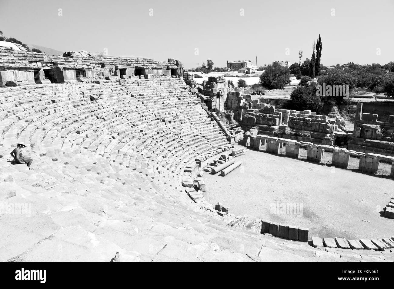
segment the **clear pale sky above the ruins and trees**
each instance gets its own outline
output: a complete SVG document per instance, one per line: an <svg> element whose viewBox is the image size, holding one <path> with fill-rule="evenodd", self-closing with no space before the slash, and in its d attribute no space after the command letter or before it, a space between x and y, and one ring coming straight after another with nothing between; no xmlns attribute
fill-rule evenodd
<svg viewBox="0 0 394 289"><path fill-rule="evenodd" d="M319 34L326 66L394 61L394 0L0 0L0 30L60 51L107 48L186 68L256 55L258 65L298 62Z"/></svg>

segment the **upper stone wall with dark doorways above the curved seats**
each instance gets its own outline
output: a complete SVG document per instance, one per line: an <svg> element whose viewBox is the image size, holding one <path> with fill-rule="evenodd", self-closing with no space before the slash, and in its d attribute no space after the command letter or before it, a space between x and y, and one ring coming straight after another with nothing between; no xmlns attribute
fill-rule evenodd
<svg viewBox="0 0 394 289"><path fill-rule="evenodd" d="M174 59L164 62L147 58L96 56L85 51L48 56L45 53L0 50L0 87L93 82L110 77L179 77L182 69L182 63ZM77 71L80 77L77 77Z"/></svg>

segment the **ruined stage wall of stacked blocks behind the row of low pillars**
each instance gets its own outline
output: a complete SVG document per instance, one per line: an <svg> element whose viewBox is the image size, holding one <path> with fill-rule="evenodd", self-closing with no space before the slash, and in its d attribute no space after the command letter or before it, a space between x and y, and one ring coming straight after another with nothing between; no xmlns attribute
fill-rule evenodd
<svg viewBox="0 0 394 289"><path fill-rule="evenodd" d="M362 103L357 104L353 132L342 118L333 120L310 110L275 109L235 91L228 93L225 108L225 117L239 121L245 131L256 127L258 134L394 156L394 116L378 121L377 114L362 113Z"/></svg>

